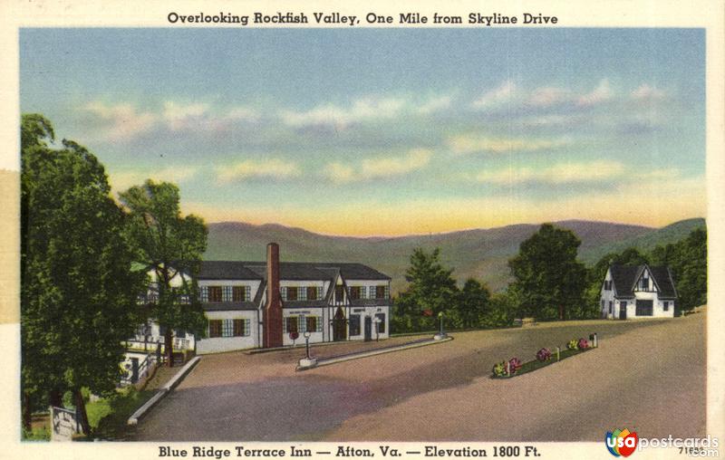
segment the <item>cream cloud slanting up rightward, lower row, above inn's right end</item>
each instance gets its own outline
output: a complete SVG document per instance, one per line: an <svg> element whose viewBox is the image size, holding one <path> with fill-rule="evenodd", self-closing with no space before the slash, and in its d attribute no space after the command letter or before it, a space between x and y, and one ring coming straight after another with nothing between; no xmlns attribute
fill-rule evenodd
<svg viewBox="0 0 725 460"><path fill-rule="evenodd" d="M324 176L335 184L398 177L425 168L432 155L428 149L412 149L401 157L365 158L354 166L333 162L325 167Z"/></svg>

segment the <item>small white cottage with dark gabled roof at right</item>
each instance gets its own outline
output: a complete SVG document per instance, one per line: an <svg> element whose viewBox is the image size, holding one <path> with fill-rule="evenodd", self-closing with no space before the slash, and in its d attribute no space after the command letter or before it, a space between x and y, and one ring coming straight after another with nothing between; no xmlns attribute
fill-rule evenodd
<svg viewBox="0 0 725 460"><path fill-rule="evenodd" d="M600 292L602 318L673 318L677 291L667 267L612 264Z"/></svg>

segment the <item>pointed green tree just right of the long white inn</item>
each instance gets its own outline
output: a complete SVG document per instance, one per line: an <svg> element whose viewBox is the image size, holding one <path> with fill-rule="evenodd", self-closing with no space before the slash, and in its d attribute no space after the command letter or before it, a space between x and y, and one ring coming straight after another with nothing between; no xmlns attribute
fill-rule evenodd
<svg viewBox="0 0 725 460"><path fill-rule="evenodd" d="M411 254L411 265L405 272L408 289L395 301L395 323L407 325L413 331L433 329L438 313L443 311L447 321L455 319L458 287L451 276L453 270L440 264L440 249L427 253L416 248Z"/></svg>

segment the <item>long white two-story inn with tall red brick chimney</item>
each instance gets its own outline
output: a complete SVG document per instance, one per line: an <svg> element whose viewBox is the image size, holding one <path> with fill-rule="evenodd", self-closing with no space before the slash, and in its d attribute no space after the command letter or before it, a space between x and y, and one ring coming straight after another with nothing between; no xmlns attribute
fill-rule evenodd
<svg viewBox="0 0 725 460"><path fill-rule="evenodd" d="M266 262L202 262L197 282L207 337L176 331L175 349L281 347L304 343L304 332L311 343L388 338L391 278L367 265L280 263L270 243ZM158 326L145 328L142 340L163 340Z"/></svg>

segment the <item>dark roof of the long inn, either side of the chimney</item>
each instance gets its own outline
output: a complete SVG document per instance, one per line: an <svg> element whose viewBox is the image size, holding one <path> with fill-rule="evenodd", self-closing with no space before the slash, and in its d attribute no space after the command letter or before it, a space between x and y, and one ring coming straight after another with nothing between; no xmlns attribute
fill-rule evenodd
<svg viewBox="0 0 725 460"><path fill-rule="evenodd" d="M347 280L390 280L391 277L363 264L282 262L279 276L287 281L333 281L337 273ZM200 280L266 280L266 263L204 261Z"/></svg>

